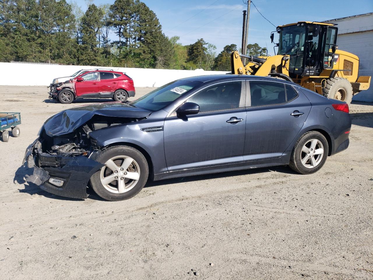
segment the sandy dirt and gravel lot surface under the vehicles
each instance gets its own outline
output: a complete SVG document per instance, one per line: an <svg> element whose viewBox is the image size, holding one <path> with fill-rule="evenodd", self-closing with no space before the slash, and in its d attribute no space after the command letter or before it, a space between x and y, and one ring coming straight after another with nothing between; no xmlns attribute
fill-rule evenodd
<svg viewBox="0 0 373 280"><path fill-rule="evenodd" d="M373 279L373 103L350 106L350 147L313 175L273 167L148 182L122 202L25 183L22 158L43 122L97 101L0 86L0 112L22 115L21 136L0 142L1 279Z"/></svg>

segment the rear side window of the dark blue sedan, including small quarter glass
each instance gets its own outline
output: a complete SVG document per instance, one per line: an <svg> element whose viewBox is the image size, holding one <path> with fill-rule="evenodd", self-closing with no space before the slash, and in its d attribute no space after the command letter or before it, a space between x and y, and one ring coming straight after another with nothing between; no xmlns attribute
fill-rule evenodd
<svg viewBox="0 0 373 280"><path fill-rule="evenodd" d="M293 99L297 92L289 85L289 97L286 98L284 84L267 81L250 81L251 106L282 104Z"/></svg>

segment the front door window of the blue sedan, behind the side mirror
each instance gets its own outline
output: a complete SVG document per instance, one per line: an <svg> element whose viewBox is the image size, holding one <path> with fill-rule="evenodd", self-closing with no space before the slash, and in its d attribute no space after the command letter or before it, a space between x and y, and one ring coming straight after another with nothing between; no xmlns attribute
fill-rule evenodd
<svg viewBox="0 0 373 280"><path fill-rule="evenodd" d="M200 112L239 108L242 82L229 82L205 88L194 94L187 102L200 106Z"/></svg>

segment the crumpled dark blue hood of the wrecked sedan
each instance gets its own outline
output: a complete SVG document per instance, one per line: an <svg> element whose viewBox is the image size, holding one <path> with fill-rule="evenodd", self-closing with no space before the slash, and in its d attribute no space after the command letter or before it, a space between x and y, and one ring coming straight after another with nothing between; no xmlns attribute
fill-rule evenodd
<svg viewBox="0 0 373 280"><path fill-rule="evenodd" d="M44 129L48 136L60 136L75 131L94 115L120 118L145 118L150 111L135 108L121 102L99 103L83 105L61 111L44 122Z"/></svg>

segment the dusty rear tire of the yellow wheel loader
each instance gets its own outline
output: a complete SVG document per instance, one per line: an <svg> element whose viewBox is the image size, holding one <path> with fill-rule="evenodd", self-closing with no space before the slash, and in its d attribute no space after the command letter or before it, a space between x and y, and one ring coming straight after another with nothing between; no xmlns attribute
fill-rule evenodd
<svg viewBox="0 0 373 280"><path fill-rule="evenodd" d="M341 77L330 78L326 80L323 96L350 104L352 101L352 85L348 80Z"/></svg>

